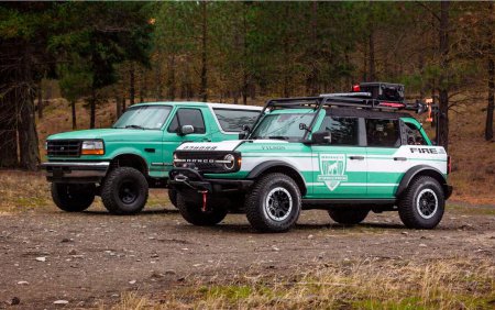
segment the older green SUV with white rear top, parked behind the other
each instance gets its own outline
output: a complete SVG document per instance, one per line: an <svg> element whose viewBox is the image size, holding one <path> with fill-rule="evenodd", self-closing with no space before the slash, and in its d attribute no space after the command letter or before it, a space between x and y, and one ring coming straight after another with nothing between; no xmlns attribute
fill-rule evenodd
<svg viewBox="0 0 495 310"><path fill-rule="evenodd" d="M155 102L130 107L111 129L58 133L46 141L47 180L55 204L89 208L96 195L116 214L140 212L150 187L166 187L173 152L186 141L237 139L261 107ZM175 204L174 190L168 191Z"/></svg>

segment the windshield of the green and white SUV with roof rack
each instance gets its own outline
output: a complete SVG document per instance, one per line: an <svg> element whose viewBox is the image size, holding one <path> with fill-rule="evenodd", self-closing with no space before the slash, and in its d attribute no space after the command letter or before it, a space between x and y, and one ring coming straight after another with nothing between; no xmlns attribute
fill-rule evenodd
<svg viewBox="0 0 495 310"><path fill-rule="evenodd" d="M306 130L300 130L299 124L305 123L309 126L315 112L307 113L283 113L268 114L255 129L251 139L278 139L299 141L302 139Z"/></svg>

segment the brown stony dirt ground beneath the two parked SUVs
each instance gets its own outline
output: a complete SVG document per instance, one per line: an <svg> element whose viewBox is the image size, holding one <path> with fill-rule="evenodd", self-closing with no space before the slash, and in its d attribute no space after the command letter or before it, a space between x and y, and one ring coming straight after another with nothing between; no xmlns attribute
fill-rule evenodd
<svg viewBox="0 0 495 310"><path fill-rule="evenodd" d="M125 291L160 296L190 277L240 270L287 275L322 262L459 257L495 264L495 206L451 202L432 231L407 230L396 213L344 228L324 211L305 211L283 234L256 233L243 214L193 226L172 206L135 217L99 206L82 213L46 206L0 213L0 308L101 307Z"/></svg>

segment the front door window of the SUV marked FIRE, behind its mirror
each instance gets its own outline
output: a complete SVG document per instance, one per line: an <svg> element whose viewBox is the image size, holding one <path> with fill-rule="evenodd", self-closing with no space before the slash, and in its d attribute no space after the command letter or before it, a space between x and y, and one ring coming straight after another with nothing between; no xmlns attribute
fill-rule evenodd
<svg viewBox="0 0 495 310"><path fill-rule="evenodd" d="M327 115L319 131L330 132L332 145L359 144L358 119Z"/></svg>

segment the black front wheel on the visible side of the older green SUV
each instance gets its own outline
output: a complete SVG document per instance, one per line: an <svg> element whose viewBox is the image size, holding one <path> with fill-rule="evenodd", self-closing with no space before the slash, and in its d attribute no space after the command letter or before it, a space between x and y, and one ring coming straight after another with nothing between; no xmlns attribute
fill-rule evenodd
<svg viewBox="0 0 495 310"><path fill-rule="evenodd" d="M138 213L147 201L147 180L138 169L116 168L103 181L101 200L110 213Z"/></svg>

